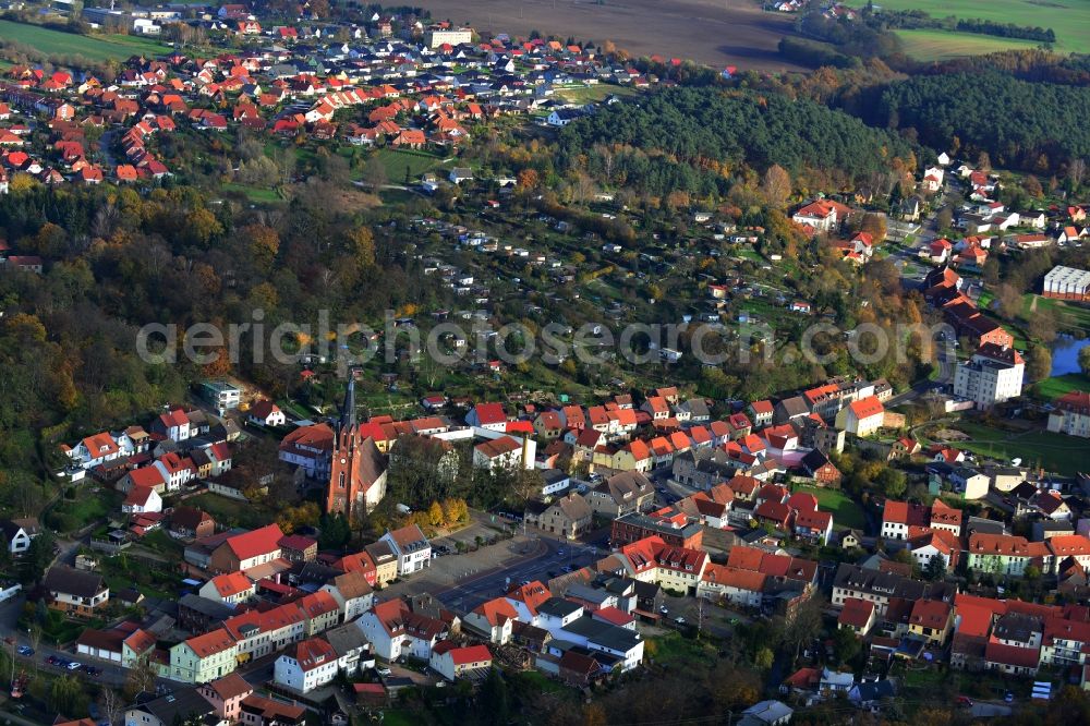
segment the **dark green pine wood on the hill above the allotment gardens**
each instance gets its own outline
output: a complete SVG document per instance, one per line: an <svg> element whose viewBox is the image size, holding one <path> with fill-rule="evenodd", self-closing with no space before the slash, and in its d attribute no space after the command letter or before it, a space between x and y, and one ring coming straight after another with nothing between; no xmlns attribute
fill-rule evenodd
<svg viewBox="0 0 1090 726"><path fill-rule="evenodd" d="M642 193L722 196L743 167L839 170L851 179L912 154L900 137L809 100L670 88L565 128L557 166L585 161L593 177Z"/></svg>

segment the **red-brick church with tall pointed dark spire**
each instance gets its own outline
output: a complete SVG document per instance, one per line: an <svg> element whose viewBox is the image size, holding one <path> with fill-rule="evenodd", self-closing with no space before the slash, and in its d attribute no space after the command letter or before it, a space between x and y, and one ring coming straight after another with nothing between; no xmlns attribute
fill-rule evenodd
<svg viewBox="0 0 1090 726"><path fill-rule="evenodd" d="M326 511L346 518L370 512L386 495L386 457L372 437L360 435L355 418L355 374L350 372L334 436Z"/></svg>

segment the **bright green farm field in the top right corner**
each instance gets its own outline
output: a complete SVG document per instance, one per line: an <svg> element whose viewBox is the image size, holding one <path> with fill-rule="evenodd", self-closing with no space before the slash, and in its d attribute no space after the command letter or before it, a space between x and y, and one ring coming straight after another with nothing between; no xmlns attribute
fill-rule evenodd
<svg viewBox="0 0 1090 726"><path fill-rule="evenodd" d="M1086 0L882 0L887 10L923 10L932 17L990 20L1029 27L1052 28L1056 33L1056 50L1090 51L1090 3ZM900 35L901 32L898 32ZM953 34L947 34L953 35ZM957 38L965 37L957 34ZM977 36L990 38L990 36ZM1005 38L993 38L1004 41ZM1032 41L1027 41L1031 43ZM974 50L972 52L986 52ZM961 55L967 55L962 52Z"/></svg>

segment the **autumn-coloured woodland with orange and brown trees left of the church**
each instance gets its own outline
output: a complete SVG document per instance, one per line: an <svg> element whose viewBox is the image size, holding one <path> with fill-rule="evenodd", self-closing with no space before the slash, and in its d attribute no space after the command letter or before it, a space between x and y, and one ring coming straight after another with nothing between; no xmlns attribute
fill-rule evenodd
<svg viewBox="0 0 1090 726"><path fill-rule="evenodd" d="M226 327L254 310L269 329L313 324L320 308L372 320L431 294L407 282L392 238L376 239L373 220L339 206L326 182L300 184L279 210L214 201L194 186L145 195L20 186L0 195L0 239L56 262L44 275L0 275L0 506L16 510L34 511L40 489L22 485L57 470L60 443L141 420L184 401L187 383L232 370L226 349L205 366L184 356L177 366L146 363L133 344L140 326ZM249 354L233 366L272 395L291 371Z"/></svg>

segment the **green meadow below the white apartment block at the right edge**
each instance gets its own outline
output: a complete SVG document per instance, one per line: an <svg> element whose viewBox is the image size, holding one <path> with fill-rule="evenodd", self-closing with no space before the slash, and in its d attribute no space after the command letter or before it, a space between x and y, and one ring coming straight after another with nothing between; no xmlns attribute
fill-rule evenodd
<svg viewBox="0 0 1090 726"><path fill-rule="evenodd" d="M950 428L962 431L971 440L956 446L993 459L1021 459L1024 465L1044 467L1068 476L1086 469L1086 441L1046 431L1008 432L985 424L962 421Z"/></svg>

